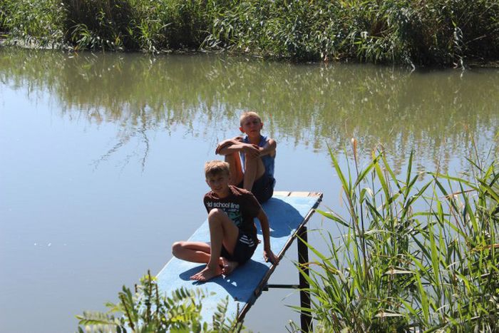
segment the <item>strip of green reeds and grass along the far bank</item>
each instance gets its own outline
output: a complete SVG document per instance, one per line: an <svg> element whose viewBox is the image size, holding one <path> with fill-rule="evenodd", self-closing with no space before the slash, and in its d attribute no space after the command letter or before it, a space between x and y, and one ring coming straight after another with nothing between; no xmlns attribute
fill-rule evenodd
<svg viewBox="0 0 499 333"><path fill-rule="evenodd" d="M496 0L1 0L11 41L462 66L499 58Z"/></svg>

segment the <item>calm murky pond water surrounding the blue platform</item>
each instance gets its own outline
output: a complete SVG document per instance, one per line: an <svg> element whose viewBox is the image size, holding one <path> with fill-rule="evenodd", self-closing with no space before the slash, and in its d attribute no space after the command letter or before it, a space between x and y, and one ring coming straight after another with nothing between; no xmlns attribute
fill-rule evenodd
<svg viewBox="0 0 499 333"><path fill-rule="evenodd" d="M363 163L384 149L396 173L411 150L416 170L453 174L470 152L497 154L498 74L0 47L0 332L74 332L76 314L158 273L205 220L202 167L241 111L278 142L276 189L341 211L328 147L346 165L351 138ZM293 246L270 282L297 283L296 258ZM245 324L284 332L297 304L266 292Z"/></svg>

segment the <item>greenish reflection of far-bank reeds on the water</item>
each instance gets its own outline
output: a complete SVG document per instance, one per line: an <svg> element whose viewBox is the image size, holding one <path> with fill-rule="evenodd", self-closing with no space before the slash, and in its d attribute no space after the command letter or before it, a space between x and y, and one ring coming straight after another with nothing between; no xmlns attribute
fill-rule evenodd
<svg viewBox="0 0 499 333"><path fill-rule="evenodd" d="M414 149L417 163L445 170L472 142L497 152L498 73L0 48L3 84L27 87L29 98L49 93L69 119L118 123L118 143L101 160L138 138L143 165L148 131L182 125L215 142L237 133L237 116L249 108L279 140L338 151L355 137L366 156L382 146L399 167Z"/></svg>

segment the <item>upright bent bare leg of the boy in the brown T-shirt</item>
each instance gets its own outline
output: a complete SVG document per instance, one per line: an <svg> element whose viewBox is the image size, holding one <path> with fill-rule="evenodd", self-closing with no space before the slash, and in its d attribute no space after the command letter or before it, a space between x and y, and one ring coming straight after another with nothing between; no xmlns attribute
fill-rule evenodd
<svg viewBox="0 0 499 333"><path fill-rule="evenodd" d="M208 214L208 225L210 226L210 260L204 270L190 277L191 280L207 281L218 275L222 275L220 267L220 251L222 245L232 254L234 251L239 229L230 220L227 214L220 209L210 210Z"/></svg>

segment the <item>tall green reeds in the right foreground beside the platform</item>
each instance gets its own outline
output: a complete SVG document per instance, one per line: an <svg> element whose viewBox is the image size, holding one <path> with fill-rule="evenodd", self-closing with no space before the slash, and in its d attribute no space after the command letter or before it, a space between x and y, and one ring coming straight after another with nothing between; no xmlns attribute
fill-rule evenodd
<svg viewBox="0 0 499 333"><path fill-rule="evenodd" d="M355 174L332 152L331 160L348 215L319 211L341 236L324 234L328 252L308 245L317 257L307 277L317 331L495 332L497 164L471 162L465 178L428 173L416 188L412 155L401 177L382 153Z"/></svg>

